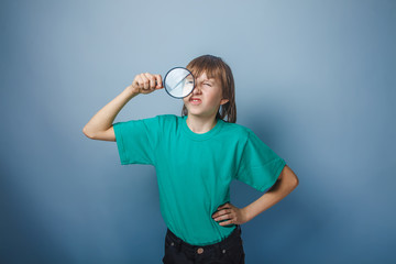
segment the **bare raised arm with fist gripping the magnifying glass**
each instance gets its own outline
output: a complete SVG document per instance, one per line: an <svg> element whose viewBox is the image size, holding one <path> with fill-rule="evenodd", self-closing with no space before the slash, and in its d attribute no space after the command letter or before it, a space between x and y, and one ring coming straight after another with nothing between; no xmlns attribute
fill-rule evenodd
<svg viewBox="0 0 396 264"><path fill-rule="evenodd" d="M162 89L162 77L148 73L136 75L132 85L100 109L84 127L82 133L92 140L116 141L112 123L117 114L133 97Z"/></svg>

